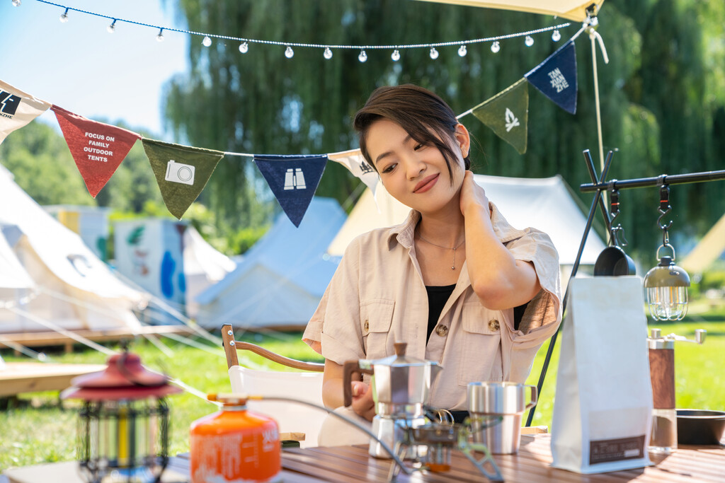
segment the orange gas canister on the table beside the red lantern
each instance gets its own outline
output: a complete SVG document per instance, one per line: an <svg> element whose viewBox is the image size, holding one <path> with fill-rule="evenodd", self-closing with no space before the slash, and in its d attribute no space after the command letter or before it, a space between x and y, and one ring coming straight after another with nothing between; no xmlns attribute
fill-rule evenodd
<svg viewBox="0 0 725 483"><path fill-rule="evenodd" d="M246 398L209 395L221 411L191 423L191 483L280 482L276 421L247 411Z"/></svg>

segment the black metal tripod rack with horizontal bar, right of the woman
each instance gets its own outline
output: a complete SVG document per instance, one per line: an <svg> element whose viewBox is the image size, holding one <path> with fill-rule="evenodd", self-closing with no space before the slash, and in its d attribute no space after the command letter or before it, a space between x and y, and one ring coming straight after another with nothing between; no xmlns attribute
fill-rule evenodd
<svg viewBox="0 0 725 483"><path fill-rule="evenodd" d="M592 199L592 206L589 208L589 216L587 217L587 224L584 227L584 234L581 235L581 242L579 243L579 251L577 251L576 259L574 260L574 264L571 267L571 274L569 275L569 280L576 277L576 272L579 271L579 264L581 262L581 254L584 252L584 245L587 243L587 237L589 236L589 231L592 230L592 222L594 222L594 217L595 217L595 212L596 212L597 206L600 207L600 211L602 212L602 217L604 218L604 222L607 227L608 238L610 240L617 240L618 228L612 227L612 219L610 218L609 211L607 210L604 200L602 199L603 191L627 190L627 189L631 189L631 188L651 188L651 187L662 188L663 186L668 186L668 185L684 185L684 184L693 183L693 182L709 182L709 181L725 180L725 169L721 169L719 171L686 173L683 175L659 175L659 176L653 176L653 177L633 178L631 180L604 181L607 178L607 174L609 172L609 167L612 162L612 156L614 154L614 151L609 151L609 153L607 155L607 160L605 161L604 167L602 168L601 177L597 176L594 161L592 161L592 154L589 152L589 149L585 149L583 151L583 154L584 154L584 160L587 161L587 169L589 170L589 177L592 178L592 182L585 183L583 185L579 185L579 190L582 193L595 193L595 196L594 196L594 199ZM568 297L569 287L571 287L571 284L567 285L566 293L564 293L562 314L564 314L566 312L566 303L569 298ZM562 324L563 324L563 322L562 322ZM561 326L559 327L559 330L557 332L555 332L554 335L552 335L552 337L550 339L549 348L547 348L547 353L546 353L546 357L544 358L544 364L542 366L542 371L539 374L539 382L537 383L537 393L538 394L541 394L541 392L542 392L542 387L544 386L544 378L546 377L547 370L549 369L549 363L551 361L551 356L552 356L552 353L554 352L554 347L556 345L556 339L559 335L560 330L561 330ZM531 426L531 421L534 419L534 411L536 410L536 408L537 408L537 406L533 406L531 409L529 409L529 415L526 417L526 426Z"/></svg>

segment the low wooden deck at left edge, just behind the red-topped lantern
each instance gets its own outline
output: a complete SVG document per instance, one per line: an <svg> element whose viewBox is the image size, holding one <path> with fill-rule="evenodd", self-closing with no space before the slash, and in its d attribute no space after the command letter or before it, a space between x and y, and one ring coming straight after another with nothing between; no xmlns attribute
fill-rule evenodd
<svg viewBox="0 0 725 483"><path fill-rule="evenodd" d="M53 364L43 362L6 362L0 369L0 398L22 392L61 391L81 374L102 371L103 364Z"/></svg>

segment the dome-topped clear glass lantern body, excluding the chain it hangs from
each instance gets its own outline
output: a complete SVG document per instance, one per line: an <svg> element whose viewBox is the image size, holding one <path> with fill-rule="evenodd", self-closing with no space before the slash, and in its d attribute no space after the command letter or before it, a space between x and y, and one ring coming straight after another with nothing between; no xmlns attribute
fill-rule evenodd
<svg viewBox="0 0 725 483"><path fill-rule="evenodd" d="M687 314L689 275L669 256L645 276L650 315L655 320L682 320Z"/></svg>

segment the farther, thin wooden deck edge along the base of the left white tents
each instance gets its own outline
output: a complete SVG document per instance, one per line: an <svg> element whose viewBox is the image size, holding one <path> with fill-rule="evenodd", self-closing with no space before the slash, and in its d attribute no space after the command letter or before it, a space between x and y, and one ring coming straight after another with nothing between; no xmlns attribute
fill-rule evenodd
<svg viewBox="0 0 725 483"><path fill-rule="evenodd" d="M194 329L191 329L186 325L145 325L140 327L136 332L130 332L130 330L126 327L100 330L70 330L69 332L85 337L88 340L93 340L94 342L109 342L115 340L133 339L136 337L143 337L144 335L191 335L194 333ZM70 337L66 337L65 335L52 331L0 334L0 348L11 347L6 344L6 342L25 345L25 347L62 345L67 353L72 352L73 345L79 344L78 341L73 340Z"/></svg>

